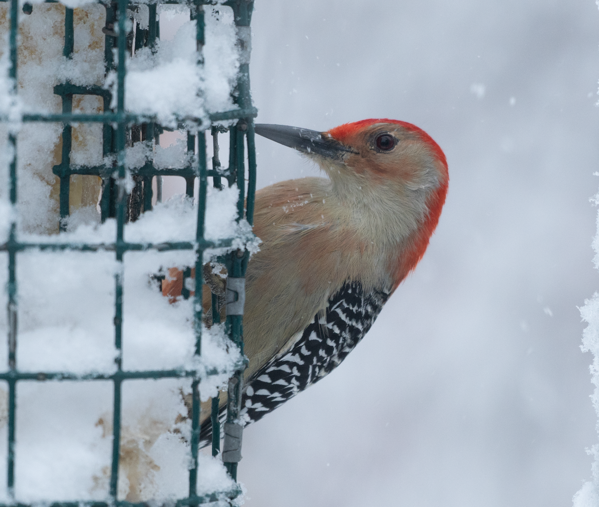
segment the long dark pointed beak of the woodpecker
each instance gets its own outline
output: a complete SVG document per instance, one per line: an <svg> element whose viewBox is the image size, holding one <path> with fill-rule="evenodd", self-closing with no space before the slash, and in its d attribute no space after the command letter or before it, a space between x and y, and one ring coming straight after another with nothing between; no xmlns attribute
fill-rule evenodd
<svg viewBox="0 0 599 507"><path fill-rule="evenodd" d="M254 126L258 135L271 141L279 142L302 153L314 153L328 159L340 160L349 153L358 153L352 148L336 141L326 132L289 127L287 125L267 125L258 123Z"/></svg>

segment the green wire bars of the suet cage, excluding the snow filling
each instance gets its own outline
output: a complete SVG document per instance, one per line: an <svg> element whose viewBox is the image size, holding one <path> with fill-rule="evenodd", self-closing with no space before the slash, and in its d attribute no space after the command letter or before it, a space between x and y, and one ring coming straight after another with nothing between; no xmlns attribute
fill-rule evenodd
<svg viewBox="0 0 599 507"><path fill-rule="evenodd" d="M6 2L6 0L3 0ZM55 3L55 0L46 0L46 4ZM68 2L67 2L68 4ZM128 109L127 102L134 98L135 90L128 91L125 95L128 75L126 71L126 59L132 53L141 50L147 50L150 53L155 50L157 40L159 40L160 26L159 16L161 6L165 4L179 4L182 8L188 8L190 20L195 21L195 40L196 40L196 65L204 65L202 57L202 48L205 44L205 13L207 9L213 9L214 6L231 8L234 16L234 26L236 34L236 45L239 54L239 66L236 83L231 91L232 107L229 110L210 111L202 117L176 117L176 125L164 125L160 118L152 114L142 114ZM19 19L23 16L36 14L36 10L43 9L45 4L20 3L19 0L10 0L5 3L5 27L8 37L5 57L8 65L8 83L11 90L8 93L11 101L19 100L19 86L17 77L20 72L19 54L20 44L25 44L22 34L20 34ZM113 424L111 425L112 445L111 445L111 466L109 470L109 494L102 501L80 502L80 499L74 498L72 501L56 501L53 498L44 499L47 505L53 507L75 507L77 505L93 505L93 507L122 506L132 507L142 505L136 502L129 502L118 495L119 484L119 457L121 448L121 428L122 428L122 388L123 384L131 380L141 379L167 379L167 378L187 378L192 386L192 400L190 405L191 431L189 438L189 492L186 497L174 500L174 505L201 505L204 503L231 502L240 494L240 488L234 487L228 491L214 491L210 494L198 494L198 483L202 479L202 469L198 466L199 436L200 436L200 390L202 380L198 372L184 369L158 369L151 371L139 371L137 369L123 368L123 343L128 339L128 335L123 330L123 277L126 277L126 270L123 265L123 258L132 251L138 253L150 251L173 251L188 250L195 253L195 266L189 266L184 270L184 278L194 278L195 286L202 287L202 290L189 290L189 286L184 284L183 296L193 298L193 332L195 333L195 354L202 354L202 317L205 320L205 302L202 309L202 293L204 292L204 280L202 275L202 258L206 250L210 248L226 248L228 251L223 254L219 260L225 264L228 272L227 293L229 305L226 311L225 329L228 336L241 349L243 357L243 299L244 299L244 275L246 271L249 253L242 247L235 250L232 245L236 238L222 239L220 241L209 241L205 239L205 211L207 201L208 185L212 184L216 189L222 187L238 188L237 201L237 220L247 220L252 224L254 193L256 187L256 159L254 145L254 127L253 118L256 116L256 110L252 107L249 87L249 53L250 53L250 19L252 16L253 1L248 0L228 0L225 2L207 1L207 0L150 0L146 3L135 3L129 0L115 0L95 4L96 8L101 6L103 9L101 27L101 40L104 44L104 76L113 75L114 83L112 88L102 85L82 86L65 80L53 87L53 93L62 101L62 113L49 113L47 111L28 111L27 108L13 113L4 114L2 122L6 128L8 136L8 153L10 159L7 163L8 171L8 192L7 200L10 201L9 208L11 217L8 219L7 237L0 238L0 251L8 257L8 283L7 291L7 310L8 310L8 365L6 369L0 372L0 380L5 381L8 389L7 402L7 427L8 427L8 456L7 456L7 496L8 501L0 504L0 507L8 505L23 505L18 495L15 496L15 484L19 481L16 476L15 462L20 457L16 453L16 442L19 441L19 420L16 418L17 405L19 404L19 386L23 381L32 382L82 382L82 381L110 381L113 387ZM73 8L71 8L73 7ZM75 4L64 5L60 7L63 12L63 56L66 60L72 59L75 48L80 44L78 41L77 19L81 8ZM220 8L222 8L220 7ZM146 23L141 23L138 16L140 10L146 14ZM157 11L158 10L158 11ZM105 22L104 22L105 11ZM162 27L164 29L164 26ZM35 34L29 36L35 37ZM60 34L62 38L62 33ZM86 36L89 38L88 36ZM89 41L88 41L89 42ZM87 44L87 42L85 42ZM147 49L146 49L147 48ZM129 90L129 89L128 89ZM132 95L133 94L133 95ZM96 111L77 112L74 111L74 103L80 101L82 96L93 96L98 101ZM193 99L193 97L192 97ZM25 104L26 106L26 104ZM16 111L16 113L14 112ZM176 116L176 111L173 111ZM19 189L19 165L18 158L22 150L28 149L31 142L35 139L23 138L19 130L21 126L43 125L52 123L62 126L62 136L58 148L58 160L55 160L52 172L59 178L59 192L56 196L58 201L59 219L56 220L56 232L58 235L35 236L35 241L29 241L27 238L32 236L23 236L19 232L19 208L17 207L17 189ZM72 147L77 142L86 142L81 136L87 132L82 129L78 140L74 139L74 130L81 126L96 125L95 132L101 132L101 151L103 163L99 165L85 165L74 163L72 161ZM150 156L143 166L129 170L125 163L126 148L134 145L135 142L145 143L149 146L150 152L158 144L159 134L165 129L179 130L186 135L187 156L185 163L179 167L161 168ZM211 169L207 166L207 132L211 135L211 142L214 147L214 156ZM228 168L222 168L219 162L218 136L228 132L229 154ZM97 139L99 142L99 139ZM247 148L247 151L246 151ZM49 154L52 159L52 153ZM225 158L225 157L222 157ZM116 237L114 241L106 242L73 242L61 241L60 236L65 236L68 226L69 211L72 209L74 192L85 192L75 185L74 181L81 181L81 176L96 177L94 181L98 185L96 195L101 195L98 202L98 212L101 215L101 221L114 220L116 222ZM193 197L194 184L197 178L199 190L196 193L196 229L193 231L195 241L170 241L170 242L152 242L152 241L128 241L126 224L137 220L146 211L152 210L153 202L161 200L161 183L163 176L179 176L186 181L186 194ZM210 179L209 179L210 178ZM153 189L153 182L154 188ZM58 183L58 180L57 180ZM101 186L101 189L100 189ZM85 184L83 185L85 187ZM88 189L89 190L89 189ZM93 190L93 189L92 189ZM94 192L96 190L93 190ZM79 196L78 199L81 199ZM70 207L69 207L70 201ZM35 205L28 204L29 206ZM22 237L20 237L22 236ZM25 238L25 239L24 239ZM58 239L57 239L58 238ZM114 276L114 348L116 348L116 359L114 372L110 374L98 373L97 371L88 372L69 372L69 371L23 371L19 368L18 348L19 348L19 323L17 315L19 309L19 277L17 277L17 264L20 254L27 251L41 252L63 252L63 251L81 251L96 255L98 252L111 252L116 256L117 265L120 265L120 271L117 270ZM221 250L223 251L223 250ZM168 268L169 266L165 266ZM204 296L205 297L205 296ZM212 303L217 305L219 297L212 295ZM237 304L235 304L237 303ZM223 314L224 315L224 314ZM211 311L211 317L215 322L220 320L220 312L214 308ZM237 371L229 380L228 384L228 413L226 415L225 440L222 450L223 462L232 477L237 481L237 463L241 459L241 425L238 424L238 417L241 404L241 383L243 381L243 361L238 362ZM208 375L214 372L208 372ZM63 385L63 384L61 384ZM213 414L211 415L213 427L213 456L220 454L220 432L222 422L218 419L218 398L212 401ZM143 504L145 505L145 504Z"/></svg>

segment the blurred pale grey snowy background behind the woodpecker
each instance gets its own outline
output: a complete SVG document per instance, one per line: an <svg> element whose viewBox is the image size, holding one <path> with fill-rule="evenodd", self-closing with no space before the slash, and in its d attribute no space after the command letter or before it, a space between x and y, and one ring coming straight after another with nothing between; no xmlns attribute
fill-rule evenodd
<svg viewBox="0 0 599 507"><path fill-rule="evenodd" d="M319 384L244 433L248 507L569 506L597 441L592 0L256 2L259 123L389 117L447 155L422 263ZM258 183L316 174L258 138Z"/></svg>

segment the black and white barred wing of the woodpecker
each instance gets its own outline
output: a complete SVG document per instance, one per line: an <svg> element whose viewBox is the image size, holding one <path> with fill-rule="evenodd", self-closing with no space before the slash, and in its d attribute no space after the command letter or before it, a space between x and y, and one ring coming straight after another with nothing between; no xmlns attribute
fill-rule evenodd
<svg viewBox="0 0 599 507"><path fill-rule="evenodd" d="M247 423L258 421L277 406L329 374L368 332L389 293L362 290L347 282L329 299L325 314L314 315L290 350L274 357L247 382L241 415ZM225 408L219 420L225 420ZM202 424L201 441L211 439L210 420Z"/></svg>

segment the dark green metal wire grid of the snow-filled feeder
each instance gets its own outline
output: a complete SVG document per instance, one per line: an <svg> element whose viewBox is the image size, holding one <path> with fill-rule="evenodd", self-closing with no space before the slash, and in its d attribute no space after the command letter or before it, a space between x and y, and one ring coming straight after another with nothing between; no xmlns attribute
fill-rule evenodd
<svg viewBox="0 0 599 507"><path fill-rule="evenodd" d="M7 1L7 0L0 0ZM19 18L19 1L8 0L10 2L10 61L11 67L9 77L13 83L11 93L17 93L17 33L18 33L18 18ZM46 0L47 2L55 2L55 0ZM202 325L202 254L204 250L211 247L230 246L234 238L220 242L207 241L204 238L204 223L205 223L205 205L207 192L207 177L213 178L215 187L221 187L221 178L226 178L229 186L237 183L240 195L238 199L238 218L246 218L250 224L253 223L253 207L254 193L256 189L256 156L254 144L254 127L253 117L256 116L256 109L252 107L250 98L250 83L249 83L249 47L247 38L243 40L241 37L238 40L238 45L241 45L241 65L238 74L237 87L234 93L234 101L237 108L231 111L222 111L210 114L211 123L222 120L235 120L238 122L229 127L229 167L221 169L218 159L218 142L217 136L223 132L222 127L212 127L211 134L213 135L214 157L213 169L208 171L206 166L206 146L205 146L205 129L209 125L202 125L201 119L198 118L180 118L180 126L195 125L193 129L187 129L187 149L193 153L195 150L195 136L198 138L198 153L197 165L188 165L183 168L159 170L151 161L147 162L143 168L138 171L133 171L137 175L138 181L143 181L143 209L144 211L152 208L152 177L162 175L177 175L186 179L187 195L193 195L194 178L199 179L199 196L198 196L198 217L196 227L195 242L164 242L160 244L151 243L132 243L125 241L124 228L126 222L126 212L131 208L131 203L128 205L129 196L125 190L125 145L127 135L138 129L143 137L148 142L152 142L156 133L160 132L162 127L155 122L152 117L143 117L135 114L129 114L125 111L125 54L127 48L127 39L130 37L126 33L126 10L129 6L128 0L116 0L113 2L101 2L106 8L106 28L114 26L117 23L117 34L110 30L105 31L105 68L106 71L115 69L113 59L113 48L117 48L118 62L116 65L117 71L117 108L110 111L111 95L107 90L97 86L81 87L71 83L61 83L55 87L56 95L62 97L62 114L25 114L22 116L23 122L60 122L63 124L62 132L62 160L59 165L53 167L53 172L60 178L60 230L64 228L63 219L69 214L69 178L72 174L81 175L97 175L102 178L102 198L100 202L102 220L108 217L115 217L117 221L116 239L111 243L72 243L72 242L25 242L19 241L17 238L16 221L13 221L10 227L8 241L0 244L0 251L8 253L8 372L0 374L0 380L5 380L8 383L8 467L7 467L7 487L8 494L14 499L14 459L15 459L15 439L16 439L16 400L17 400L17 382L20 380L111 380L114 385L114 400L113 400L113 447L112 447L112 465L110 475L110 500L107 502L53 502L52 499L47 499L46 502L52 507L78 507L81 505L89 505L90 507L108 507L122 506L134 507L147 505L146 503L131 503L117 499L117 484L119 478L119 448L120 448L120 417L121 417L121 391L122 382L132 379L159 379L159 378L190 378L192 380L192 433L190 439L190 448L193 467L189 470L189 494L183 499L176 501L177 506L183 505L199 505L207 502L214 502L218 499L228 498L234 499L241 490L234 488L231 491L220 491L210 495L198 496L197 481L198 481L198 444L199 444L199 378L195 371L180 371L180 370L160 370L160 371L123 371L122 363L122 316L123 316L123 256L128 251L168 251L168 250L194 250L196 254L195 262L195 283L196 291L194 296L194 330L196 336L195 354L201 354L201 325ZM198 49L198 65L202 65L201 51L204 45L204 5L216 5L217 2L209 0L195 0L187 2L186 0L167 0L158 2L163 4L183 4L190 8L192 20L196 20L196 42ZM158 3L149 4L150 23L147 31L141 31L137 26L137 34L140 38L136 38L135 47L140 48L148 46L153 48L156 42L157 32L159 29L156 20L156 7ZM222 2L222 5L231 7L234 12L234 22L238 30L238 34L248 34L249 26L252 17L253 1L252 0L228 0ZM32 5L25 4L23 12L30 14ZM247 27L247 28L246 28ZM247 35L246 35L247 37ZM131 42L131 41L130 41ZM74 26L73 26L73 10L65 8L65 44L63 54L67 58L72 57L74 50ZM96 95L101 96L104 101L104 110L101 114L77 114L72 113L72 96L73 95ZM7 119L2 119L7 121ZM104 125L103 127L103 154L106 156L110 153L115 153L115 166L93 166L93 167L77 167L72 168L70 165L71 156L71 123L87 123L98 122ZM116 128L115 128L116 124ZM10 201L13 207L17 204L17 135L11 132L8 135L9 144L13 147L13 159L10 163ZM245 141L245 142L244 142ZM248 160L248 188L247 201L245 195L245 153L244 144L247 144L247 160ZM193 157L188 157L188 160L193 160ZM117 177L114 178L114 172L117 172ZM244 210L244 202L246 202ZM139 205L141 207L141 204ZM130 210L129 210L130 211ZM77 251L114 251L116 260L121 263L120 272L115 276L115 312L114 312L114 345L117 349L116 366L117 371L114 374L97 374L90 372L88 374L72 374L69 372L21 372L17 368L16 350L17 350L17 278L16 278L16 262L17 253L38 249L42 251L62 251L62 250L77 250ZM245 276L249 253L247 251L236 251L227 254L224 259L228 276L233 278L243 278ZM213 301L214 295L213 295ZM215 322L220 320L217 312L213 312ZM227 315L226 331L232 341L240 347L243 354L243 316L242 315ZM245 363L238 366L237 372L229 382L229 403L227 422L231 423L237 420L241 403L241 386L243 381L243 369ZM216 374L216 371L208 372L208 374ZM216 403L216 404L215 404ZM220 424L218 421L218 399L213 400L213 413L211 414L213 423L213 455L219 451L220 441ZM237 463L225 463L226 468L232 478L237 480ZM8 505L23 505L17 502L2 504L0 507ZM25 507L25 506L23 506Z"/></svg>

